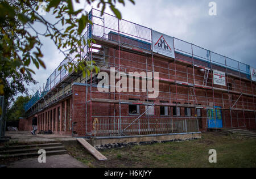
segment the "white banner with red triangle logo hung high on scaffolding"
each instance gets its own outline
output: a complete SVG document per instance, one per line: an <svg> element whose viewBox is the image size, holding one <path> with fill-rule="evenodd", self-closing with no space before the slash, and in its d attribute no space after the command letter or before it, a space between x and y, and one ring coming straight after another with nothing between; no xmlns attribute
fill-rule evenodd
<svg viewBox="0 0 256 179"><path fill-rule="evenodd" d="M174 37L152 30L153 52L175 58Z"/></svg>

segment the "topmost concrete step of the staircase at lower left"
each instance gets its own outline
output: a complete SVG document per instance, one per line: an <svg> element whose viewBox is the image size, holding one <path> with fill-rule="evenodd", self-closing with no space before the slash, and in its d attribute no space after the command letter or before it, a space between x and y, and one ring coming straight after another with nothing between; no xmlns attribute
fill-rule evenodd
<svg viewBox="0 0 256 179"><path fill-rule="evenodd" d="M0 151L6 150L19 150L19 149L28 149L33 147L55 147L55 146L63 146L62 143L44 143L44 144L30 144L30 145L23 145L23 146L3 146L0 147Z"/></svg>

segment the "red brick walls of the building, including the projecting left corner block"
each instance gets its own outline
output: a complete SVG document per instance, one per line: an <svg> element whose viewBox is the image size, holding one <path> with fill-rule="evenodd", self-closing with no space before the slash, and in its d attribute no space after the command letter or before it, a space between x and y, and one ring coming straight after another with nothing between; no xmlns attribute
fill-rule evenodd
<svg viewBox="0 0 256 179"><path fill-rule="evenodd" d="M114 38L114 36L112 36ZM123 41L126 41L127 39L121 38ZM130 39L129 39L130 41ZM139 45L139 44L137 44ZM153 59L152 57L146 57L141 56L134 53L129 52L120 52L119 59L119 51L114 49L109 49L106 51L106 57L108 62L110 64L115 63L115 69L118 69L119 67L119 61L121 63L121 69L126 74L129 72L135 72L138 71L139 73L141 71L146 72L146 69L148 72L153 71ZM181 54L176 53L176 59L182 59L186 60L188 62L192 62L191 57L183 56ZM146 65L147 63L147 65ZM195 59L195 63L197 65L203 65L209 67L209 64L206 62L202 62ZM168 70L168 67L170 70ZM225 71L222 67L214 66L217 70ZM195 75L193 75L193 69L191 67L185 67L183 65L176 65L176 78L175 78L175 64L174 62L168 63L166 61L163 61L162 59L155 58L154 57L154 71L159 72L159 78L165 78L165 79L172 79L172 80L179 80L182 82L187 83L194 83L195 78L195 84L202 85L204 80L204 72L200 70L195 69ZM115 83L118 80L115 80ZM246 92L250 93L251 90L251 83L250 82L240 82L240 80L232 79L231 77L228 77L226 79L227 82L232 84L232 88L234 91L239 92ZM208 76L208 84L209 87L212 87L212 73ZM214 85L214 87L217 88L224 88L227 89L227 87L224 86L218 86ZM90 87L88 87L88 91L90 90ZM167 101L168 103L174 103L178 102L180 104L185 103L191 103L193 104L192 95L188 87L181 87L175 85L169 85L165 83L159 84L159 91L162 91L159 93L159 97L157 99L154 99L155 103L160 103L160 101ZM177 91L177 93L176 93ZM253 91L255 92L255 84L253 84ZM96 118L100 120L101 130L114 130L118 127L118 118L119 118L119 104L110 104L110 103L87 103L87 111L86 111L86 87L82 85L73 85L72 87L72 102L66 102L64 101L57 104L61 108L61 119L63 121L64 119L64 106L72 106L72 109L67 107L68 111L71 111L71 113L68 114L69 117L72 117L73 125L73 135L79 136L79 137L85 137L86 135L92 135L94 134L94 131L98 130L97 127L94 128L94 121L96 121ZM171 92L171 94L170 94ZM234 103L236 103L238 97L240 95L228 95L228 93L220 92L220 91L213 91L212 90L204 90L204 89L196 89L196 98L198 101L198 104L205 105L205 106L213 106L213 103L215 106L221 106L221 108L230 108L233 106ZM129 99L138 99L140 101L146 101L147 93L146 92L122 92L121 99L129 100ZM88 99L90 100L90 92L88 93ZM214 97L214 100L213 100ZM100 93L97 91L97 88L92 88L92 98L99 98L99 99L119 99L119 93L115 92L115 97L113 93ZM230 99L230 100L229 100ZM252 109L254 110L255 102L253 100L253 97L249 96L243 96L238 100L237 104L234 106L234 108L245 108L245 109ZM56 108L56 106L53 106L53 108ZM49 109L47 109L49 110ZM175 119L172 108L168 107L169 113L171 114L169 118ZM87 112L87 117L86 117ZM92 112L92 114L91 114ZM121 116L122 117L122 129L127 126L128 123L133 121L136 116L130 116L129 115L129 105L121 105ZM145 112L145 106L140 106L140 114ZM184 108L181 108L181 117L179 119L189 119L189 118L195 118L196 111L195 109L192 109L192 116L191 117L185 117ZM45 113L42 112L40 114ZM72 114L72 115L71 115ZM207 130L207 109L202 109L201 111L202 118L201 118L201 129L200 131ZM94 117L91 117L94 116ZM115 121L114 121L115 116ZM242 127L246 125L249 129L255 129L255 116L253 112L236 112L233 111L231 113L232 121L230 117L230 110L222 110L222 122L224 127ZM143 118L147 118L147 116L143 116ZM164 121L166 118L163 118L160 116L160 106L155 106L155 118L150 116L150 120L152 123L154 123L156 120L158 121ZM24 124L23 124L24 123ZM29 122L21 122L20 126L26 126L26 127L20 127L21 129L29 129L27 123ZM59 127L57 129L57 132L64 131L64 123L62 122L61 130L59 130ZM70 123L67 121L67 126L70 126ZM71 135L71 130L67 129L67 133Z"/></svg>

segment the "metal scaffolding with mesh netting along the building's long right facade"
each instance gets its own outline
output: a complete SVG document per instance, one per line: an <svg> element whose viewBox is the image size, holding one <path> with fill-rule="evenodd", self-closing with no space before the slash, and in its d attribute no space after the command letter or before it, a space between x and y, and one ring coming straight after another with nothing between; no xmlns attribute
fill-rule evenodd
<svg viewBox="0 0 256 179"><path fill-rule="evenodd" d="M94 40L96 40L96 44L97 46L100 46L100 48L105 49L114 49L114 56L110 57L106 54L104 54L104 59L106 58L117 58L118 59L118 63L116 63L115 61L113 61L113 63L108 63L108 66L113 66L117 69L117 71L123 71L125 73L128 73L128 71L130 69L133 69L134 71L147 71L150 68L151 71L154 73L154 71L159 71L159 74L162 74L162 76L167 75L166 73L161 73L161 71L163 70L167 70L167 68L163 68L160 67L158 65L154 64L154 57L159 57L158 54L154 54L152 52L152 48L148 48L148 46L146 45L141 45L143 42L145 44L150 44L152 45L152 39L151 39L151 29L148 29L146 27L142 27L141 25L138 24L134 24L131 22L127 22L126 20L118 20L117 18L115 18L112 15L109 14L104 14L103 18L100 16L100 12L98 12L97 10L93 9L93 14L92 14L92 21L93 21L93 26L92 26L92 37ZM100 19L100 20L98 20ZM133 29L131 28L135 28L136 34L134 34L135 31L133 31ZM141 32L141 33L139 33ZM145 32L148 32L149 34L145 35ZM116 36L116 37L115 37ZM146 38L148 37L148 38ZM125 40L124 40L125 39ZM177 44L177 45L176 45ZM183 44L183 45L182 45ZM186 44L186 45L184 45ZM93 46L94 46L93 45ZM186 48L184 48L185 46L191 46L190 50L186 50ZM93 46L91 48L91 52L96 52L96 50L100 49L100 48L96 48L93 49ZM169 127L164 127L164 125L167 125L167 123L171 123L172 126L174 126L174 120L180 120L183 122L186 122L187 120L195 120L197 123L197 130L194 131L198 131L199 130L199 122L198 122L198 117L192 117L192 116L187 116L187 117L179 117L179 116L168 116L168 117L160 117L162 119L165 118L166 121L169 122L158 122L159 120L156 119L156 115L154 112L153 116L145 116L145 114L148 112L148 109L152 108L152 106L169 106L171 107L176 107L177 108L194 108L195 112L197 111L197 109L207 109L209 113L212 112L212 114L210 115L214 115L214 119L216 120L217 117L217 113L219 113L219 111L221 111L221 113L224 113L224 125L226 125L226 120L225 120L225 111L230 111L230 123L231 126L233 127L233 115L232 113L236 113L238 116L238 112L242 112L243 113L243 123L242 125L240 125L241 122L237 121L237 127L244 127L246 126L246 120L255 120L255 103L254 103L254 91L255 91L255 86L253 86L253 82L250 80L250 72L248 69L250 69L249 66L238 62L238 61L234 61L233 59L230 58L226 58L224 56L221 56L220 54L217 53L213 53L210 52L209 50L200 48L199 46L190 44L188 42L185 42L183 40L179 40L174 38L174 46L175 46L175 52L177 54L182 54L185 57L190 57L192 58L192 60L188 60L188 59L184 59L184 58L175 58L175 59L167 59L168 62L168 78L161 78L159 79L160 83L167 83L169 84L170 90L169 90L169 98L168 101L170 101L169 103L156 103L155 100L153 100L151 103L145 103L144 101L136 101L136 103L134 103L134 101L131 100L124 100L125 98L127 98L127 96L137 96L139 97L146 97L148 100L148 96L147 95L134 95L134 94L124 94L121 92L118 92L118 99L115 99L115 92L113 92L113 100L111 99L93 99L92 98L92 93L97 93L97 91L93 91L93 84L90 84L90 108L92 109L92 105L93 103L109 103L109 104L113 104L114 106L114 116L98 116L98 115L91 115L90 116L90 122L93 123L93 120L97 119L97 123L99 126L101 127L94 127L94 129L99 130L100 128L102 129L102 131L94 131L94 135L106 135L106 134L102 134L104 133L104 131L106 133L109 133L108 135L141 135L141 134L152 134L152 133L156 133L158 134L158 132L160 132L158 129L152 131L152 127L148 128L149 130L145 130L145 127L141 127L141 123L145 123L148 125L148 122L141 122L143 120L147 120L148 118L152 118L154 121L154 126L157 125L163 125L162 130L164 129L171 129ZM179 46L181 48L179 48ZM188 48L187 48L188 49ZM118 57L115 57L115 51L117 51L118 53ZM134 54L139 54L141 56L144 56L146 58L146 67L145 69L139 69L138 67L132 67L129 65L125 65L127 63L123 63L123 61L125 60L126 62L129 61L129 63L138 63L136 60L134 59L122 59L120 57L121 52L130 52L130 53L134 53ZM100 53L100 50L98 50L98 53ZM204 57L202 54L207 54L208 56ZM106 57L108 56L108 57ZM97 61L97 63L102 63L101 60L97 60L97 58L94 58L95 56L93 56L93 54L91 53L90 56L90 60L94 60ZM152 60L151 65L148 65L148 59ZM122 61L122 62L121 62ZM105 63L105 61L104 61ZM237 63L237 65L235 65ZM170 69L170 64L174 64L174 68ZM181 66L185 66L187 67L187 71L180 71L177 70L177 65L181 65ZM242 66L242 68L240 68L240 66ZM155 70L158 69L158 70ZM160 70L161 69L161 70ZM188 71L192 69L192 73L189 73ZM216 87L216 85L213 84L213 70L221 70L221 71L225 71L226 73L226 78L232 78L232 79L239 79L240 80L240 84L236 84L236 86L232 87L232 89L230 89L230 87L228 86L228 88L226 87ZM196 70L201 70L203 71L202 76L198 75L195 73ZM130 72L130 71L129 71ZM180 74L185 74L180 75ZM174 74L174 75L171 75ZM192 78L189 78L189 76L193 76ZM209 76L211 76L211 79L209 79ZM200 78L203 78L201 84L199 84L199 80ZM251 87L249 86L244 86L242 84L242 82L249 82L251 83ZM227 84L230 84L229 82ZM171 87L175 87L175 92L172 93L171 92ZM188 88L188 95L187 95L187 99L185 100L187 103L184 104L171 104L171 100L176 100L176 101L184 101L184 94L181 94L179 91L177 91L177 88L179 86L183 86L183 87L187 87ZM205 100L204 96L200 96L197 95L196 92L197 90L202 90L204 89L205 91L207 91L207 99ZM191 92L189 94L189 91ZM210 96L210 92L212 97ZM214 96L216 93L220 92L221 93L221 97L216 97ZM164 91L159 91L159 93L167 93ZM226 96L226 93L228 93L228 99L226 99L224 96ZM148 91L147 91L148 94ZM239 96L238 98L236 98L236 101L234 104L232 104L232 101L230 101L230 95L236 95ZM166 97L161 97L161 95L159 95L160 99L162 100L167 100ZM174 96L174 97L172 97ZM180 98L179 98L180 97ZM249 102L249 101L244 101L244 97L252 97L253 101ZM197 98L199 98L199 100L197 100ZM247 98L246 98L247 99ZM212 105L209 105L208 100L212 101ZM184 101L184 102L185 102ZM205 101L207 101L207 104L205 105L199 105L204 104ZM221 101L221 102L219 102ZM228 103L226 103L226 101L228 101ZM238 104L239 102L239 104ZM122 110L122 105L148 105L150 107L146 108L147 110L142 113L139 114L139 116L137 117L133 117L133 116L122 116L121 115L121 110ZM229 104L229 106L226 106L226 104ZM246 104L246 105L245 105ZM221 106L221 108L218 108L217 106ZM226 106L226 107L225 107ZM236 106L236 107L235 107ZM235 108L234 108L235 107ZM119 110L119 115L117 116L115 114L115 108L118 108ZM208 113L207 112L207 113ZM245 112L254 113L254 117L250 118L250 117L245 117ZM93 112L90 111L90 114L92 114ZM144 117L143 117L144 116ZM114 126L113 129L115 129L115 123L117 123L118 130L112 130L113 134L110 134L111 130L103 130L104 127L108 128L110 126L109 122L106 122L108 120L111 119L105 119L104 118L113 118L113 122L112 125ZM115 118L118 118L118 121L115 120ZM129 120L126 120L126 119ZM159 117L157 117L159 118ZM204 117L201 117L204 118ZM238 119L238 117L237 117ZM206 117L207 123L209 123L209 119L208 116ZM105 122L104 122L105 121ZM128 122L125 122L128 121ZM130 122L129 122L130 121ZM241 119L240 119L241 121ZM177 122L177 121L176 121ZM95 123L95 121L94 121ZM152 123L150 123L152 124ZM185 126L185 125L184 125ZM226 127L226 126L225 126ZM111 128L111 127L110 127ZM143 130L141 130L144 129ZM154 127L153 127L154 128ZM158 127L156 127L158 128ZM217 126L216 126L217 128ZM124 134L124 131L126 131L127 129L130 129L130 132L127 134ZM184 127L185 129L185 127ZM117 131L116 134L114 134L114 131ZM172 130L166 130L167 133L171 133L173 131ZM183 130L184 131L184 130ZM161 131L160 133L164 133L164 131ZM92 131L93 134L93 131Z"/></svg>

